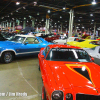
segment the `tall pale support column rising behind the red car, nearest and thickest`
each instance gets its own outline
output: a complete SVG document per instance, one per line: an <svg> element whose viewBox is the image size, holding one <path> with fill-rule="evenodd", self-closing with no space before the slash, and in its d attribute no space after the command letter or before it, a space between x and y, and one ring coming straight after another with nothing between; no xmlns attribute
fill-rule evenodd
<svg viewBox="0 0 100 100"><path fill-rule="evenodd" d="M72 37L73 21L74 21L74 11L71 9L69 14L70 14L70 19L69 19L69 33L68 33L68 37Z"/></svg>

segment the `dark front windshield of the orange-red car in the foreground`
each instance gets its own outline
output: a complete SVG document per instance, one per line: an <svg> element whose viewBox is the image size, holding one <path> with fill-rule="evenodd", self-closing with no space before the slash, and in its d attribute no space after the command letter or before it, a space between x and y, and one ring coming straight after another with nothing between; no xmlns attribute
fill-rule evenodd
<svg viewBox="0 0 100 100"><path fill-rule="evenodd" d="M85 50L72 48L52 48L46 60L91 62L91 58Z"/></svg>

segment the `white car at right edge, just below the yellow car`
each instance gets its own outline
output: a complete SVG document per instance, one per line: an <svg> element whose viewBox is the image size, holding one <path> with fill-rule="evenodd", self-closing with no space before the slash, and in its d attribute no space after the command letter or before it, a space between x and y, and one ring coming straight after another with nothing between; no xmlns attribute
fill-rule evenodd
<svg viewBox="0 0 100 100"><path fill-rule="evenodd" d="M95 48L84 48L84 50L92 57L100 59L100 46L96 46Z"/></svg>

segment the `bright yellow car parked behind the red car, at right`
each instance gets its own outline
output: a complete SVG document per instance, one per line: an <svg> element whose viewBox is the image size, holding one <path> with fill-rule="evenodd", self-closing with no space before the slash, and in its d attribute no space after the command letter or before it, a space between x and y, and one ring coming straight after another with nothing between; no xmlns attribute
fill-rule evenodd
<svg viewBox="0 0 100 100"><path fill-rule="evenodd" d="M100 40L81 39L78 41L67 42L67 44L81 48L94 48L96 46L100 46Z"/></svg>

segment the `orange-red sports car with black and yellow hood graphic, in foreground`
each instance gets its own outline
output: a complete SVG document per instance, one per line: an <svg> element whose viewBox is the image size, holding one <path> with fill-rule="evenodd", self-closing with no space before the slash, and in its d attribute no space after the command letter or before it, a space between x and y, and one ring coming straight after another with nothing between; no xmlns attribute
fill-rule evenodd
<svg viewBox="0 0 100 100"><path fill-rule="evenodd" d="M38 54L42 100L100 100L100 66L86 51L48 45Z"/></svg>

